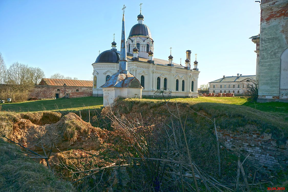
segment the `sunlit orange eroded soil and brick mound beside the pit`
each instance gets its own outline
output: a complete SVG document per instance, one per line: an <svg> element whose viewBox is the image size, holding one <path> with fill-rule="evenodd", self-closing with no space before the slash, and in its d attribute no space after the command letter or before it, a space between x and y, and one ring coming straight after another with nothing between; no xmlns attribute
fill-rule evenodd
<svg viewBox="0 0 288 192"><path fill-rule="evenodd" d="M41 118L44 117L45 115L42 115ZM35 119L33 121L36 121ZM38 124L41 124L41 121L38 121ZM32 123L29 119L21 119L20 117L12 125L13 131L9 138L36 151L40 150L42 145L48 149L53 145L59 150L82 148L90 151L99 149L104 141L109 140L107 135L109 131L91 126L90 123L83 121L75 113L68 113L58 122L50 125L40 126Z"/></svg>

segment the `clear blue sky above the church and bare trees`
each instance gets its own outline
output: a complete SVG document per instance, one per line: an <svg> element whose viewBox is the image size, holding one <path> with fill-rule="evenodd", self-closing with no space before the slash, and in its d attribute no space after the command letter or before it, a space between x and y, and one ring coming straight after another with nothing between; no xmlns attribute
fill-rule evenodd
<svg viewBox="0 0 288 192"><path fill-rule="evenodd" d="M90 80L98 50L120 49L122 6L126 37L137 23L139 4L150 28L154 57L185 60L197 53L198 86L222 75L255 75L260 6L242 1L0 1L0 52L7 66L20 62L54 73ZM194 62L194 59L192 59ZM182 62L183 64L184 62Z"/></svg>

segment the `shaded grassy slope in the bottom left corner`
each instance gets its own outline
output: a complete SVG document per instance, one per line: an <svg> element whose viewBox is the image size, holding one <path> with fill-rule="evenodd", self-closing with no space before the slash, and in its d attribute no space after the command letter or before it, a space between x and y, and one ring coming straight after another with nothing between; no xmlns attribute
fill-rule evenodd
<svg viewBox="0 0 288 192"><path fill-rule="evenodd" d="M71 183L57 179L41 164L26 159L19 147L0 139L0 191L75 191Z"/></svg>

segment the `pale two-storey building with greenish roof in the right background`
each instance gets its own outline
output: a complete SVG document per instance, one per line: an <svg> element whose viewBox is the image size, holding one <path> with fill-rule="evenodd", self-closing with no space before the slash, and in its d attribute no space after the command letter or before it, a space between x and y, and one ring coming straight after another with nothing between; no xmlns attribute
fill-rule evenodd
<svg viewBox="0 0 288 192"><path fill-rule="evenodd" d="M235 95L246 95L247 84L254 85L256 75L242 75L223 77L209 82L209 93L234 93Z"/></svg>

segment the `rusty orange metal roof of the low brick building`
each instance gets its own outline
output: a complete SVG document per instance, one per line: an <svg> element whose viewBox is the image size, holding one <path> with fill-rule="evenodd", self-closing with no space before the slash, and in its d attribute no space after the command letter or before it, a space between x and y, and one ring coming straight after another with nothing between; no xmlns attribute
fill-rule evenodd
<svg viewBox="0 0 288 192"><path fill-rule="evenodd" d="M67 86L93 87L93 81L74 80L74 79L50 79L50 78L42 78L39 85L63 86L64 83Z"/></svg>

